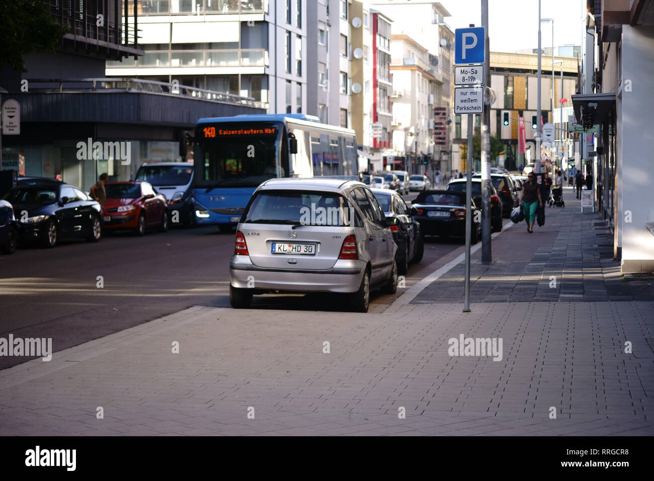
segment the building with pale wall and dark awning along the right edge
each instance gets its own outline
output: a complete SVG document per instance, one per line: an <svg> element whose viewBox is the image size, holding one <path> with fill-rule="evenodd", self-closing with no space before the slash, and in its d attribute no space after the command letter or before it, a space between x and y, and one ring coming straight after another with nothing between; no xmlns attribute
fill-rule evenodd
<svg viewBox="0 0 654 481"><path fill-rule="evenodd" d="M583 169L613 230L624 274L654 272L651 135L654 9L649 0L586 3L576 120L587 128Z"/></svg>

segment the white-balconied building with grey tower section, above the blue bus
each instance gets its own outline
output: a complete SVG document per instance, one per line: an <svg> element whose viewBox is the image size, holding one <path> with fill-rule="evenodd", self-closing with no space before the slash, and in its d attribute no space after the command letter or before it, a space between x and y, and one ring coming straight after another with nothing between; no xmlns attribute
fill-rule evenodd
<svg viewBox="0 0 654 481"><path fill-rule="evenodd" d="M305 112L307 0L137 0L137 60L107 75L138 76L254 98L269 113Z"/></svg>

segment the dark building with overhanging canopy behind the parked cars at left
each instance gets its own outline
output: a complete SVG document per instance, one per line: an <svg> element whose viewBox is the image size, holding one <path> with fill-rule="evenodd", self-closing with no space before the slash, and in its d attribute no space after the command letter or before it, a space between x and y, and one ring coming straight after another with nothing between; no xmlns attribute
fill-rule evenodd
<svg viewBox="0 0 654 481"><path fill-rule="evenodd" d="M198 117L263 112L249 99L171 84L168 77L165 82L105 78L105 63L144 57L135 27L141 29L139 11L155 2L44 4L69 33L56 54L24 56L26 73L3 69L8 91L3 101L14 99L21 109L20 135L3 135L3 170L56 177L84 189L103 172L125 181L145 160L182 160L180 141ZM92 149L96 142L104 149Z"/></svg>

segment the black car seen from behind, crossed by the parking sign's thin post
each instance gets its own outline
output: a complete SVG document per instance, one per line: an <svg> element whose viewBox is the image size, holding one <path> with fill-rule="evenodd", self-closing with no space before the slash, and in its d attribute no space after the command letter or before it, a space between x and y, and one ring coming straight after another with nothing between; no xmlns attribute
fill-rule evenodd
<svg viewBox="0 0 654 481"><path fill-rule="evenodd" d="M420 222L425 236L466 237L466 192L453 190L424 190L418 194L413 207L414 219ZM481 238L481 209L474 200L471 205L471 243Z"/></svg>

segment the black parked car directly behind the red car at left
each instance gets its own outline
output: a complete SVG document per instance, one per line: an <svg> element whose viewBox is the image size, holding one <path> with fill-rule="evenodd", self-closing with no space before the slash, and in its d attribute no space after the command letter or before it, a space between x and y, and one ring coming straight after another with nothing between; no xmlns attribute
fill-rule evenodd
<svg viewBox="0 0 654 481"><path fill-rule="evenodd" d="M66 238L97 242L102 235L100 204L63 183L18 183L5 200L14 206L18 238L54 247Z"/></svg>

